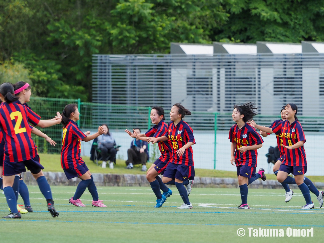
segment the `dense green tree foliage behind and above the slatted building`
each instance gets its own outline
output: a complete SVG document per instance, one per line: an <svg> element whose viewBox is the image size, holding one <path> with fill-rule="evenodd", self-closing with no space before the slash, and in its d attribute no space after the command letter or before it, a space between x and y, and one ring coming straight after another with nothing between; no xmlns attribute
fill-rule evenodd
<svg viewBox="0 0 324 243"><path fill-rule="evenodd" d="M23 64L39 96L83 101L91 101L96 53L168 53L170 42L324 41L321 0L2 0L0 9L2 64Z"/></svg>

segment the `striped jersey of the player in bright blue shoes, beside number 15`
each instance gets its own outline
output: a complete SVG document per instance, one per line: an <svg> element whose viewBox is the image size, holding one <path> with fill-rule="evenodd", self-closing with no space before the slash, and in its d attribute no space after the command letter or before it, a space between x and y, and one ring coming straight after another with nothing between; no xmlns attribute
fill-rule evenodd
<svg viewBox="0 0 324 243"><path fill-rule="evenodd" d="M145 133L146 137L162 137L168 131L168 125L164 120L161 120L157 125L154 125L150 130ZM172 157L172 148L168 141L160 141L158 143L161 156L159 159L164 162Z"/></svg>

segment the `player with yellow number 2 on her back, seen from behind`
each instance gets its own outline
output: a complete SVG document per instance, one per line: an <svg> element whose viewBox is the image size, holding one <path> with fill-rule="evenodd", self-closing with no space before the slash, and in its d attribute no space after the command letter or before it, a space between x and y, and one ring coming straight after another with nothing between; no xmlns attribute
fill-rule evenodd
<svg viewBox="0 0 324 243"><path fill-rule="evenodd" d="M59 215L54 208L51 187L48 184L39 162L37 148L31 139L32 126L37 125L38 116L26 106L17 103L14 87L10 83L0 86L0 98L4 102L0 108L0 127L5 138L5 156L3 162L3 191L11 213L4 218L21 218L16 203L17 197L13 188L19 188L19 178L16 175L30 170L47 201L48 211L53 217ZM16 190L18 191L18 190Z"/></svg>

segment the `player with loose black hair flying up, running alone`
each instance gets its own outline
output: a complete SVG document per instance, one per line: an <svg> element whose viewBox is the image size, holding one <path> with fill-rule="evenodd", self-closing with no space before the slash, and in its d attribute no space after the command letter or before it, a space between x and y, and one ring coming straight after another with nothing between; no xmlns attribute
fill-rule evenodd
<svg viewBox="0 0 324 243"><path fill-rule="evenodd" d="M229 140L231 141L231 163L236 165L238 185L241 193L242 203L238 209L249 209L248 185L256 179L266 180L264 169L260 168L258 173L257 149L262 147L263 140L247 121L251 120L257 114L255 110L258 107L254 102L248 102L243 105L235 105L232 113L233 121L236 122L229 130Z"/></svg>

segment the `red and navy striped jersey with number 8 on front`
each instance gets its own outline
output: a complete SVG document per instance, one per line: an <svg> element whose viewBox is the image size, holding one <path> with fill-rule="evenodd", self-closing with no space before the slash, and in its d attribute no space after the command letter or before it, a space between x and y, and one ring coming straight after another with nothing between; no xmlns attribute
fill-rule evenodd
<svg viewBox="0 0 324 243"><path fill-rule="evenodd" d="M299 141L306 143L305 134L302 125L295 120L289 124L289 121L279 122L272 127L272 131L276 134L281 134L283 145L291 146ZM283 147L283 146L282 146ZM295 149L284 148L285 160L283 163L288 166L307 166L306 153L304 145Z"/></svg>

